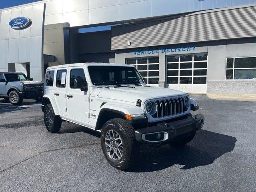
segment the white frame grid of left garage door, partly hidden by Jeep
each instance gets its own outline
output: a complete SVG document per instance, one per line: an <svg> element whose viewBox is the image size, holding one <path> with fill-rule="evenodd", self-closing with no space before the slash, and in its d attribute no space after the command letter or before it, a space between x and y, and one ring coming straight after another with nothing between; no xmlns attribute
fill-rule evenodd
<svg viewBox="0 0 256 192"><path fill-rule="evenodd" d="M158 58L158 63L149 63L149 58ZM147 63L144 63L144 64L138 64L138 59L139 58L147 58ZM141 65L146 65L147 66L147 70L138 70L138 72L147 72L147 76L142 76L140 74L140 76L142 77L143 81L145 82L145 79L147 80L147 82L145 82L147 85L152 85L152 86L159 86L159 56L146 56L146 57L132 57L132 58L125 58L125 61L126 61L126 64L127 64L127 59L136 59L136 64L128 64L128 65L133 65L137 70L138 70L138 66L141 66ZM155 70L149 70L149 66L150 65L158 65L158 69L155 69ZM149 72L152 72L152 71L158 71L158 76L149 76ZM145 79L144 79L145 78ZM158 78L158 84L150 84L149 83L149 78Z"/></svg>

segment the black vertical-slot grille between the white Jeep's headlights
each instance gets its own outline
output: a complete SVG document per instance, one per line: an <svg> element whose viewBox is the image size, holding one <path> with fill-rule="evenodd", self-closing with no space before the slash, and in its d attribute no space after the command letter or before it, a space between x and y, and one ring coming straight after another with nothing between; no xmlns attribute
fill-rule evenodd
<svg viewBox="0 0 256 192"><path fill-rule="evenodd" d="M155 100L154 102L157 106L157 110L156 113L152 115L152 117L162 118L166 116L182 114L188 110L186 107L186 100L188 102L188 98L186 97Z"/></svg>

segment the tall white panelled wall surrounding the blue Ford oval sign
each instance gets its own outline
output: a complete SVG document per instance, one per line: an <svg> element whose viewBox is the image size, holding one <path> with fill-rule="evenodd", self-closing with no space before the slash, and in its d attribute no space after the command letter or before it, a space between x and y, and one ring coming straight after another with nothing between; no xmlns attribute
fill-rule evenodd
<svg viewBox="0 0 256 192"><path fill-rule="evenodd" d="M16 71L22 70L18 63L30 63L30 77L44 77L43 47L45 4L31 4L2 11L0 21L0 71L8 71L8 63L17 63ZM16 17L28 17L32 24L15 30L9 22Z"/></svg>

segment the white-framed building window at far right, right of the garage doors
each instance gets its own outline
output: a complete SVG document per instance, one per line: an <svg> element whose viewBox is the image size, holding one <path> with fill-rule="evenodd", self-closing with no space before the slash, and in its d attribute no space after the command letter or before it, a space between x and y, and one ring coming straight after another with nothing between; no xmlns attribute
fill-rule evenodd
<svg viewBox="0 0 256 192"><path fill-rule="evenodd" d="M227 58L226 80L256 80L256 57Z"/></svg>

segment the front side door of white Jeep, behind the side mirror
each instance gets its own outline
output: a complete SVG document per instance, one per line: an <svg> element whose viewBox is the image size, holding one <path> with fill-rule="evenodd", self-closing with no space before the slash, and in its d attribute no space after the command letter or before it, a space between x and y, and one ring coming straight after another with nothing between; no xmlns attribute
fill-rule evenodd
<svg viewBox="0 0 256 192"><path fill-rule="evenodd" d="M86 83L86 76L83 67L70 67L67 86L67 110L71 120L84 124L90 121L89 89L87 92L74 88L74 79L82 78ZM85 85L85 84L84 84Z"/></svg>

